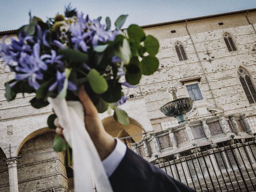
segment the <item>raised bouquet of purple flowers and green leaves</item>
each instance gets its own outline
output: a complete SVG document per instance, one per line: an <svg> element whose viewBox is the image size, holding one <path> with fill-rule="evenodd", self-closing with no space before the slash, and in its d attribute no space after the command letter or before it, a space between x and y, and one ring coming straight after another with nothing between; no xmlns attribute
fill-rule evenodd
<svg viewBox="0 0 256 192"><path fill-rule="evenodd" d="M18 30L18 38L6 44L4 37L0 44L0 57L15 73L15 78L5 84L7 100L14 100L18 93L35 93L31 105L42 108L51 102L60 118L61 111L67 110L70 115L71 110L56 109L66 103L54 100L78 101L78 86L84 85L98 112L112 109L114 118L128 125L126 112L118 108L128 99L122 89L135 87L142 74L150 75L158 69L155 55L159 44L135 24L122 30L126 18L127 15L119 16L115 29L110 30L109 17L101 24L102 17L92 20L70 6L64 15L57 14L46 22L30 14L29 24ZM50 128L55 128L56 115L48 118ZM62 124L64 130L65 126L72 126ZM64 136L74 153L77 145L69 136L71 132ZM54 150L64 149L69 150L69 146L56 136Z"/></svg>

